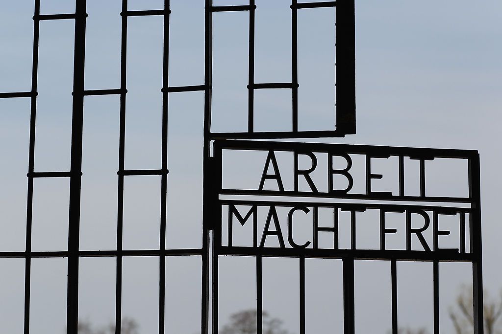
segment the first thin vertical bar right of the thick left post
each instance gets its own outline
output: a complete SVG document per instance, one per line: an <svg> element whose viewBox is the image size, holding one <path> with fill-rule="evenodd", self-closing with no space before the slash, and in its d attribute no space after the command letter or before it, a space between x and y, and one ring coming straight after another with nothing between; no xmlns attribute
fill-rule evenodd
<svg viewBox="0 0 502 334"><path fill-rule="evenodd" d="M122 0L122 13L127 12L127 0ZM124 170L126 151L126 92L127 92L127 16L121 17L120 32L120 106L118 126L118 171ZM120 334L122 320L122 232L123 232L124 175L118 173L117 185L117 257L115 275L115 334Z"/></svg>

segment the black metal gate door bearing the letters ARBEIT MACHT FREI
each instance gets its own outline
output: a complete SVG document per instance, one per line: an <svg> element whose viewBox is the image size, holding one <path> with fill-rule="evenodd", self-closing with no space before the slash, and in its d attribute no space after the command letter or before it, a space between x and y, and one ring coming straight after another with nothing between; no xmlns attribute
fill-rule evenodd
<svg viewBox="0 0 502 334"><path fill-rule="evenodd" d="M222 170L223 170L223 152L224 151L265 151L268 152L266 167L262 175L263 180L267 177L267 167L272 164L275 175L279 175L277 161L269 160L271 152L292 152L295 159L295 173L298 169L298 155L309 155L313 152L328 154L329 158L332 155L344 156L347 159L347 168L345 170L337 170L337 173L347 171L351 168L351 160L349 154L364 155L366 160L366 176L373 179L380 178L379 175L371 174L371 167L368 163L371 157L398 157L399 158L399 193L392 195L385 192L372 192L366 182L366 191L362 194L347 194L351 188L349 186L345 191L331 191L324 193L316 193L314 190L310 192L299 191L298 176L294 177L294 190L285 191L284 186L277 180L279 190L263 190L263 184L260 184L259 190L234 190L224 188L222 185ZM215 171L214 189L213 189L213 205L219 207L219 214L214 222L214 241L213 241L213 324L217 323L218 315L218 258L221 255L234 256L254 256L256 257L256 287L257 287L257 309L258 309L258 324L261 325L262 309L263 309L263 268L262 261L264 257L290 257L299 259L299 319L300 319L300 334L305 334L305 258L334 258L341 259L343 263L343 325L344 333L351 334L355 332L355 305L354 305L354 260L386 260L391 262L391 284L392 284L392 333L398 333L398 281L397 281L397 262L398 261L425 261L433 263L433 333L439 334L439 263L440 262L466 262L472 263L472 283L473 283L473 301L474 301L474 333L480 334L483 332L483 296L482 296L482 257L481 257L481 207L480 207L480 178L479 178L479 154L477 151L471 150L448 150L448 149L424 149L424 148L405 148L405 147L386 147L386 146L363 146L363 145L339 145L339 144L312 144L312 143L286 143L286 142L258 142L258 141L216 141L214 145L214 156L217 167ZM419 160L420 165L420 194L417 196L407 196L405 194L405 178L403 158ZM328 161L329 161L328 158ZM468 164L468 196L467 197L438 197L429 196L425 189L425 161L434 160L435 158L447 159L462 159ZM274 158L275 159L275 158ZM272 162L270 162L272 161ZM274 162L275 161L275 162ZM313 160L314 161L314 160ZM315 168L316 163L313 162ZM303 170L303 172L312 172L312 169ZM329 173L334 171L328 170ZM307 174L308 175L308 174ZM329 176L331 177L331 176ZM348 177L347 177L348 178ZM307 177L305 177L308 180ZM312 186L310 185L312 188ZM232 197L228 197L232 195ZM256 196L265 196L266 199L260 199ZM240 197L243 196L243 197ZM254 196L257 199L249 200L249 196ZM270 196L280 196L280 200L270 199ZM292 198L291 201L287 197ZM222 197L222 198L220 198ZM243 199L240 199L240 198ZM284 199L286 197L286 199ZM297 198L315 198L324 197L324 201L298 201ZM230 198L230 199L229 199ZM333 202L328 199L352 199L357 202ZM371 200L371 202L363 202L363 200ZM362 201L362 202L361 202ZM374 201L379 201L375 204ZM389 204L391 201L409 202L410 204ZM435 203L436 205L422 204ZM470 207L444 206L442 203L468 203ZM223 224L223 206L228 207L228 241L226 245L222 241L222 224ZM246 208L242 215L235 208L236 206L244 206ZM262 239L258 238L257 233L257 216L258 207L270 207L268 218L265 224ZM292 247L286 247L283 232L277 226L278 220L271 217L275 214L277 217L276 207L292 208L288 215L288 241ZM308 212L308 208L312 208L314 221L313 247L307 248L308 244L297 245L293 241L292 232L292 213L294 211L303 210ZM318 226L319 220L317 211L319 208L333 209L333 227ZM433 237L433 247L429 248L427 243L422 245L424 250L413 250L411 247L411 212L420 208L424 211L432 211L433 218L427 217L427 226L432 225L435 236ZM380 249L361 249L356 245L356 212L365 211L366 209L380 210ZM338 210L350 212L350 248L343 249L338 247ZM386 247L385 233L393 233L392 230L385 227L385 212L406 212L407 236L406 249L396 250ZM383 214L382 214L383 213ZM439 214L459 214L459 249L440 249L438 244L438 235L442 231L438 231L438 215ZM226 213L225 213L226 214ZM465 215L468 215L469 228L466 230ZM233 217L244 225L246 221L253 224L253 242L252 246L234 246L232 245L232 226ZM424 217L425 218L425 217ZM270 231L267 224L274 219L275 230ZM319 232L333 233L333 249L318 248L317 234ZM269 233L269 234L266 234ZM279 247L265 246L266 236L277 236ZM466 236L469 238L469 249L466 249ZM423 236L422 236L423 238ZM425 240L424 240L425 241ZM428 249L429 248L429 249ZM217 324L214 328L217 328ZM261 328L258 330L261 333Z"/></svg>

